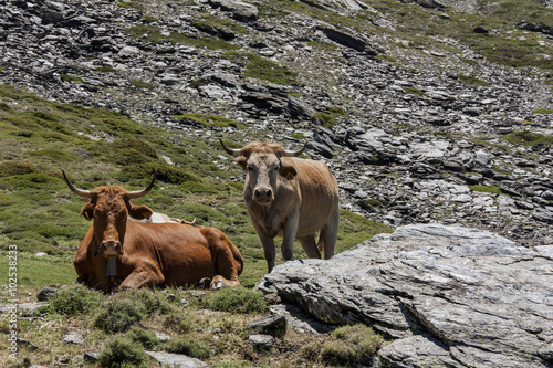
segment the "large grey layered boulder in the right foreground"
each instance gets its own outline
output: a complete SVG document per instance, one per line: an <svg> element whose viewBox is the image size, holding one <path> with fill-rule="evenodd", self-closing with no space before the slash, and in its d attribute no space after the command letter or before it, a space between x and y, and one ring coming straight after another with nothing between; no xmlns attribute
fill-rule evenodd
<svg viewBox="0 0 553 368"><path fill-rule="evenodd" d="M330 261L276 266L258 284L322 322L393 338L389 367L552 367L553 246L416 224Z"/></svg>

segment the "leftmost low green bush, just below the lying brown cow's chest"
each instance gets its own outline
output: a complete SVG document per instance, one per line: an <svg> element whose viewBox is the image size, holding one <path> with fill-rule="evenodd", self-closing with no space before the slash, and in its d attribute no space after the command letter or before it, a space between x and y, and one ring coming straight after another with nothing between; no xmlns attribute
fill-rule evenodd
<svg viewBox="0 0 553 368"><path fill-rule="evenodd" d="M64 316L86 315L100 308L105 296L84 285L60 290L50 297L50 309Z"/></svg>

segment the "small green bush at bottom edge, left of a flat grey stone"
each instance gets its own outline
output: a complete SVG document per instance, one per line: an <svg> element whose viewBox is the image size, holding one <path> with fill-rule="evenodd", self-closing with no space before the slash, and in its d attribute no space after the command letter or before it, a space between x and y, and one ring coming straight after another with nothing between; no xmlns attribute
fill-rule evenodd
<svg viewBox="0 0 553 368"><path fill-rule="evenodd" d="M109 339L98 355L102 367L149 367L149 358L139 345L129 338L116 336Z"/></svg>

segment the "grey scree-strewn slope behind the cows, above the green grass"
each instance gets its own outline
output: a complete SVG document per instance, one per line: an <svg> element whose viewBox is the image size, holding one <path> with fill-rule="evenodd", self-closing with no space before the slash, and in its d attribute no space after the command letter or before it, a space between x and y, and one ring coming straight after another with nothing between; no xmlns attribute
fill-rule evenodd
<svg viewBox="0 0 553 368"><path fill-rule="evenodd" d="M456 3L409 7L442 21L459 15ZM342 206L371 220L456 223L528 246L553 243L546 71L491 63L446 35L431 38L436 49L394 36L397 11L371 2L278 4L0 1L0 82L212 139L213 148L216 136L285 146L307 137L307 155L338 178ZM382 32L346 24L358 14ZM538 33L514 24L512 33L552 50L551 28L533 25ZM254 62L265 74L249 74ZM185 113L247 128L175 117ZM212 159L237 170L222 153Z"/></svg>

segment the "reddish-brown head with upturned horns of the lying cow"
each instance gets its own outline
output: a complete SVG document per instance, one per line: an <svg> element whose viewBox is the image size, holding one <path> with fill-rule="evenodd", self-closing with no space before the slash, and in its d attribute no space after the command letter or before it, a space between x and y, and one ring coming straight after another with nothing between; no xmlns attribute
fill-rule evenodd
<svg viewBox="0 0 553 368"><path fill-rule="evenodd" d="M94 190L75 188L63 171L63 178L72 192L88 198L82 214L86 220L94 220L95 255L116 257L123 254L123 244L127 225L127 217L137 220L149 219L152 210L147 206L134 206L131 200L146 196L154 187L156 172L148 187L138 191L128 191L122 187L98 187Z"/></svg>

